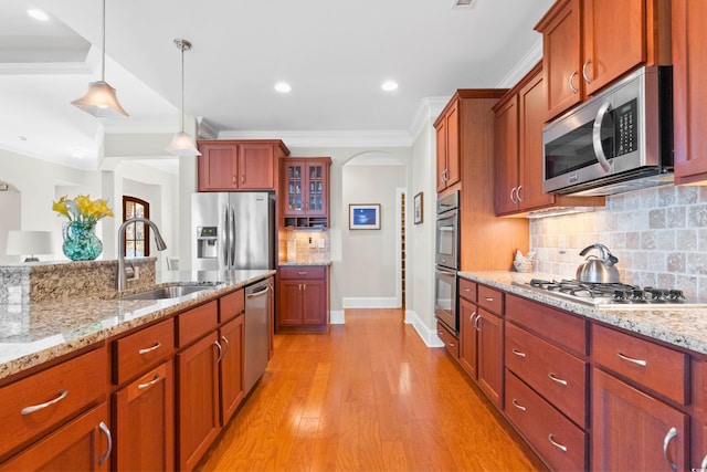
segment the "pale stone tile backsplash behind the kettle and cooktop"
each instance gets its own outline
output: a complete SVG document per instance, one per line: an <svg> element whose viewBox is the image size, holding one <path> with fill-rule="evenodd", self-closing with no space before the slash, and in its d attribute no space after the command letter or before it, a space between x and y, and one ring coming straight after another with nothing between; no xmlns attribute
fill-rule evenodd
<svg viewBox="0 0 707 472"><path fill-rule="evenodd" d="M574 279L580 251L593 243L619 258L624 283L707 297L707 187L637 190L593 212L530 220L538 272Z"/></svg>

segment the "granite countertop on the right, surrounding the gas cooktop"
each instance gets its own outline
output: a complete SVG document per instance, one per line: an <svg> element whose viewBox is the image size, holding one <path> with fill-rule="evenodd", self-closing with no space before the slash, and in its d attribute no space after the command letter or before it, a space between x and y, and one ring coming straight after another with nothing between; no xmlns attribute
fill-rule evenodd
<svg viewBox="0 0 707 472"><path fill-rule="evenodd" d="M537 272L460 272L460 276L707 355L707 306L653 308L645 305L612 305L614 307L598 308L514 284L514 282L524 284L529 282L530 279L561 279L552 274Z"/></svg>

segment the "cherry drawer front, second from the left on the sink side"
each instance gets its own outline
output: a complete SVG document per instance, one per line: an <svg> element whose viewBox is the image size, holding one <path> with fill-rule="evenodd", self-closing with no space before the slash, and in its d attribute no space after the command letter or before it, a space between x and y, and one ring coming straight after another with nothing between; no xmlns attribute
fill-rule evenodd
<svg viewBox="0 0 707 472"><path fill-rule="evenodd" d="M143 374L175 352L172 318L140 329L113 342L113 382L115 385Z"/></svg>

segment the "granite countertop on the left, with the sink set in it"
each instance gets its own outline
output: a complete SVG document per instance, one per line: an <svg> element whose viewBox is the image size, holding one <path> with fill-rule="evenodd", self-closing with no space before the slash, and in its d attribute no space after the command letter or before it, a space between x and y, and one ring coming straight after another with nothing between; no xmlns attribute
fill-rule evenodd
<svg viewBox="0 0 707 472"><path fill-rule="evenodd" d="M167 271L157 274L158 285L198 282L207 289L169 300L124 301L112 291L105 297L0 304L0 379L274 274L274 270Z"/></svg>

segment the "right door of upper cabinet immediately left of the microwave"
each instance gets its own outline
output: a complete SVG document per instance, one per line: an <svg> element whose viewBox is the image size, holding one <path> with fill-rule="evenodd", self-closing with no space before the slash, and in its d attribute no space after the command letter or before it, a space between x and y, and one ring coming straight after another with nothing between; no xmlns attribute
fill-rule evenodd
<svg viewBox="0 0 707 472"><path fill-rule="evenodd" d="M542 125L545 116L542 74L537 73L518 92L518 164L517 197L523 210L548 207L555 202L551 193L542 191Z"/></svg>

